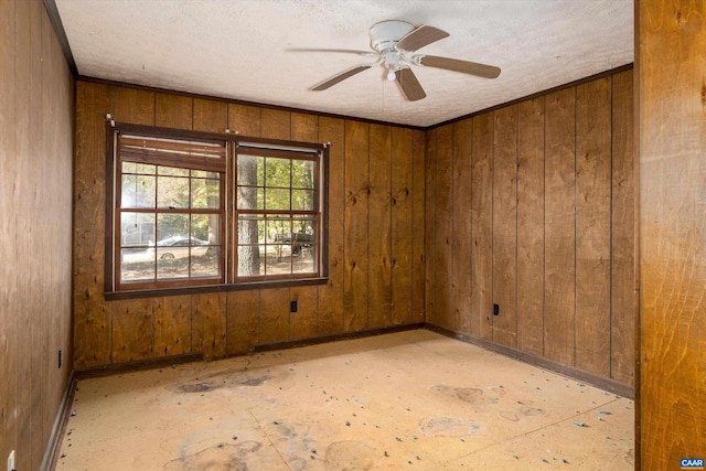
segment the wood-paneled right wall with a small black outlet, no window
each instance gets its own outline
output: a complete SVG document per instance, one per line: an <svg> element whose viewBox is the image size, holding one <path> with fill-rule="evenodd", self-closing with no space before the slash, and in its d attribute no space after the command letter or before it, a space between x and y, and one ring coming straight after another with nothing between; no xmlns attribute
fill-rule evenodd
<svg viewBox="0 0 706 471"><path fill-rule="evenodd" d="M632 101L625 71L427 132L427 322L633 385Z"/></svg>

